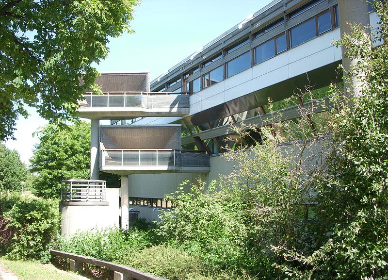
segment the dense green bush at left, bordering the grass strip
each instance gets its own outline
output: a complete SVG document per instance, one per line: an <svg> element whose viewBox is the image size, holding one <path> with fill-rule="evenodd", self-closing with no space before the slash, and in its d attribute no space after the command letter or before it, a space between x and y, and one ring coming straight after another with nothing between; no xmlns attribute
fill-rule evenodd
<svg viewBox="0 0 388 280"><path fill-rule="evenodd" d="M0 207L13 236L2 247L7 258L49 261L49 246L59 234L58 201L10 196L0 198Z"/></svg>

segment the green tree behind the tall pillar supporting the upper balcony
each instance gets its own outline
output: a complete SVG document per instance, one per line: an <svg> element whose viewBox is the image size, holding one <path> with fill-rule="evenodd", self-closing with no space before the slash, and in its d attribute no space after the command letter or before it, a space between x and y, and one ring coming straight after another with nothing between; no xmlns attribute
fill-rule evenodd
<svg viewBox="0 0 388 280"><path fill-rule="evenodd" d="M90 123L79 121L65 131L48 124L40 134L40 143L31 158L35 194L43 198L60 198L61 181L90 177ZM102 174L101 174L102 175ZM110 187L119 186L118 176L104 174Z"/></svg>

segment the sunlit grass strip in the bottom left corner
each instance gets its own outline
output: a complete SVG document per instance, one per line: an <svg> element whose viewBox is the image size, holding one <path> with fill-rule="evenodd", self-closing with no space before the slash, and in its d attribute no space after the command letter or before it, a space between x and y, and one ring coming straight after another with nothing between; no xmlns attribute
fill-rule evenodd
<svg viewBox="0 0 388 280"><path fill-rule="evenodd" d="M0 258L5 269L10 270L19 280L81 280L87 279L72 272L57 269L52 264L33 261L10 261Z"/></svg>

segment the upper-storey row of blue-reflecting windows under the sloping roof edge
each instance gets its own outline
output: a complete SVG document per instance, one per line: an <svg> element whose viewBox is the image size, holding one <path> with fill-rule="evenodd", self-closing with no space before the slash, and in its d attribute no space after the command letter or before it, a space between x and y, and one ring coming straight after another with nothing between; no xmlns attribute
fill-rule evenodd
<svg viewBox="0 0 388 280"><path fill-rule="evenodd" d="M297 10L294 10L290 14L288 14L287 18L289 19L297 15L300 15L301 13L316 6L321 2L323 2L323 0L311 1L303 5L302 7L298 8ZM222 59L223 53L226 55L227 53L230 53L236 49L239 49L242 46L250 43L251 38L252 39L258 38L264 33L267 33L268 31L282 24L284 24L283 17L275 20L268 26L260 29L258 32L254 33L251 37L246 37L242 41L239 41L238 43L232 45L231 47L224 49L223 52L219 52L212 58L206 60L205 62L202 62L200 65L201 68L209 66L213 62ZM265 60L268 60L274 57L275 55L283 51L286 51L289 48L296 47L338 26L339 26L339 12L338 12L338 5L335 5L333 8L328 9L316 16L313 16L307 19L306 21L300 23L299 25L287 30L286 33L282 33L275 36L274 38L260 44L254 49L243 53L242 55L236 57L231 61L228 61L223 66L219 66L211 70L210 72L207 72L201 75L199 78L189 82L189 76L199 71L200 69L199 66L196 66L190 72L187 72L184 75L182 75L182 87L177 89L176 91L196 93L201 89L204 89L208 86L221 82L226 78L229 78L237 73L242 72L243 70L246 70L252 67L253 65L257 65ZM170 87L179 81L180 81L180 78L170 82L169 84L167 84L167 86ZM166 90L166 88L162 88L162 90L160 91L164 91L164 90Z"/></svg>

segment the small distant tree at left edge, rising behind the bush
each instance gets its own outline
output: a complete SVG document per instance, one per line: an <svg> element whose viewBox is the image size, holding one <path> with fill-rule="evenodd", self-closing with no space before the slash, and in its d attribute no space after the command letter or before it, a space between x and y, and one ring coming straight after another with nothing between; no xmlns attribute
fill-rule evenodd
<svg viewBox="0 0 388 280"><path fill-rule="evenodd" d="M0 144L0 191L21 191L21 181L26 181L28 173L17 151Z"/></svg>

